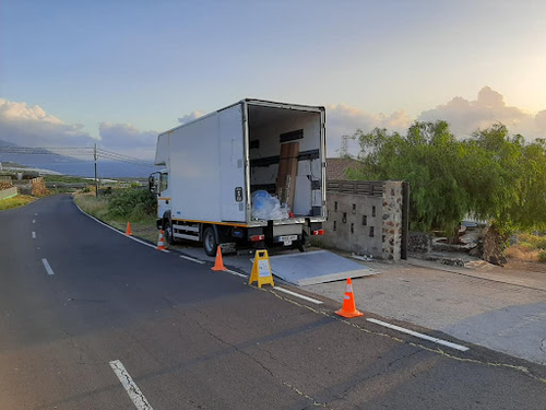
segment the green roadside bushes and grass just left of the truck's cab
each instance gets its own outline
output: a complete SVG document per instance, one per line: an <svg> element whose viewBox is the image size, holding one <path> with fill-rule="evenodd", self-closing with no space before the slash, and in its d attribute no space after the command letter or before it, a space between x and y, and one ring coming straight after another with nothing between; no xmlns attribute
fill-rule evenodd
<svg viewBox="0 0 546 410"><path fill-rule="evenodd" d="M133 236L141 237L152 243L157 242L156 218L143 212L119 213L119 200L111 197L95 198L95 192L78 192L73 196L74 202L86 213L120 231L126 231L130 222ZM118 198L119 199L119 198ZM114 211L112 211L114 206Z"/></svg>

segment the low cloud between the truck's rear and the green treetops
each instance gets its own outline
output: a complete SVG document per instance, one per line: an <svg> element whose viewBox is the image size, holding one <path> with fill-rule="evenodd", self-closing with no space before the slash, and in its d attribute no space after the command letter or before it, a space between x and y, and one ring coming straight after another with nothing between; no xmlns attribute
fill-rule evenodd
<svg viewBox="0 0 546 410"><path fill-rule="evenodd" d="M330 105L327 107L327 152L328 156L337 156L344 136L353 136L357 129L365 132L376 127L390 131L404 132L413 119L404 110L391 115L371 114L347 105ZM356 155L359 151L357 141L347 140L348 152Z"/></svg>

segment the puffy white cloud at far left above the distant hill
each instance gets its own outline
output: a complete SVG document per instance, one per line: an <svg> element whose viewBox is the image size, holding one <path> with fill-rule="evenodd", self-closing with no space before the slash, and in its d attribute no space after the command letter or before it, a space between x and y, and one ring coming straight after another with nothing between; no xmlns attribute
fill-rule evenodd
<svg viewBox="0 0 546 410"><path fill-rule="evenodd" d="M23 147L88 147L82 125L66 124L38 105L0 98L0 139Z"/></svg>

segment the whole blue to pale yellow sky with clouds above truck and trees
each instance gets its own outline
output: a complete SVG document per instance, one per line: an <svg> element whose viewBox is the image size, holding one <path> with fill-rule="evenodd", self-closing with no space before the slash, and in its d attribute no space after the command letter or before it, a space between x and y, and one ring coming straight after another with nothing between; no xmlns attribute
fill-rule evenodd
<svg viewBox="0 0 546 410"><path fill-rule="evenodd" d="M245 97L325 106L329 156L415 120L532 140L545 73L543 0L0 2L0 140L20 145L152 159L158 132Z"/></svg>

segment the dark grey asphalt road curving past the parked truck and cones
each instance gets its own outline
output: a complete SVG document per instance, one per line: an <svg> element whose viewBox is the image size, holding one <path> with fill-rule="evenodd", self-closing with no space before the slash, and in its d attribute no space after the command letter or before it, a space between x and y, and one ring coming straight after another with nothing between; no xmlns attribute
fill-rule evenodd
<svg viewBox="0 0 546 410"><path fill-rule="evenodd" d="M544 366L439 349L337 307L44 198L0 213L0 409L545 408Z"/></svg>

